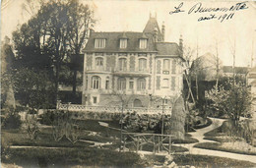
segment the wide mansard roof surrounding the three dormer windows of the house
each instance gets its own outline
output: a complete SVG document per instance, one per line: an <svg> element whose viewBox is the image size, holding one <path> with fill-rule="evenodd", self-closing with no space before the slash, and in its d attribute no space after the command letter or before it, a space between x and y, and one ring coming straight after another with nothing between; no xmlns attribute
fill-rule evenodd
<svg viewBox="0 0 256 168"><path fill-rule="evenodd" d="M123 37L127 38L127 47L119 47L119 39ZM95 48L95 39L104 38L105 47L104 48ZM148 46L146 49L139 48L139 39L147 38ZM92 32L91 36L86 45L85 51L87 52L145 52L145 51L156 51L156 47L153 41L152 33L144 32Z"/></svg>

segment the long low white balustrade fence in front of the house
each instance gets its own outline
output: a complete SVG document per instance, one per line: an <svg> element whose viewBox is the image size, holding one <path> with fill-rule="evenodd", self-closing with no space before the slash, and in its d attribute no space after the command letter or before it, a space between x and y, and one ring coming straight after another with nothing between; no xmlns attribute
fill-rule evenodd
<svg viewBox="0 0 256 168"><path fill-rule="evenodd" d="M106 112L106 113L120 113L122 111L122 107L119 106L88 106L88 105L80 105L80 104L62 104L59 103L57 105L59 110L69 110L69 111L83 111L83 112ZM164 114L170 114L171 109L156 109L156 108L124 108L124 113L132 113L136 112L138 114L159 114L164 112Z"/></svg>

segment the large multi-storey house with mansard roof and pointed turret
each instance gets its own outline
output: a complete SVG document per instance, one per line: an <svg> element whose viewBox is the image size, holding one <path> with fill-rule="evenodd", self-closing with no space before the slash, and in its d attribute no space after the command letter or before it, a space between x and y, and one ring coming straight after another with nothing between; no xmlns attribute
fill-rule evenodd
<svg viewBox="0 0 256 168"><path fill-rule="evenodd" d="M164 41L156 18L142 32L91 31L85 48L82 103L90 106L153 106L178 97L183 87L182 39Z"/></svg>

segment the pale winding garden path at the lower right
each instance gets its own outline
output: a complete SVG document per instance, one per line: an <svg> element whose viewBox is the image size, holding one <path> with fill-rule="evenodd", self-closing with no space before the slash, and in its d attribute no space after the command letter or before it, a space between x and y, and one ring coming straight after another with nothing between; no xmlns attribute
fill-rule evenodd
<svg viewBox="0 0 256 168"><path fill-rule="evenodd" d="M210 132L220 126L222 126L224 119L217 119L217 118L211 118L213 121L213 124L209 127L198 129L194 133L189 133L193 139L199 140L199 142L218 142L215 140L204 140L204 134L207 132ZM188 153L190 154L201 154L201 155L211 155L211 156L219 156L219 157L226 157L231 159L237 159L237 160L244 160L244 161L250 161L253 163L256 163L256 156L255 155L246 155L246 154L238 154L238 153L231 153L226 151L220 151L220 150L211 150L211 149L203 149L203 148L197 148L194 147L195 144L199 143L189 143L189 144L173 144L177 146L183 146L188 148Z"/></svg>

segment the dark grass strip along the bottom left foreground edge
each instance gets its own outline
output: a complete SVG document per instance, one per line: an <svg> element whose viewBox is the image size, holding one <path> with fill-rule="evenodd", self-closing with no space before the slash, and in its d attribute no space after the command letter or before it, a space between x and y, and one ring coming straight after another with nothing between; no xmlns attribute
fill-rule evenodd
<svg viewBox="0 0 256 168"><path fill-rule="evenodd" d="M2 162L22 167L71 167L75 165L93 167L144 167L140 156L131 152L87 147L76 148L10 148L8 158ZM118 158L118 159L117 159Z"/></svg>

